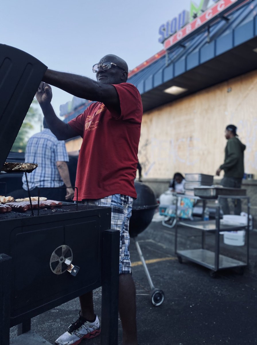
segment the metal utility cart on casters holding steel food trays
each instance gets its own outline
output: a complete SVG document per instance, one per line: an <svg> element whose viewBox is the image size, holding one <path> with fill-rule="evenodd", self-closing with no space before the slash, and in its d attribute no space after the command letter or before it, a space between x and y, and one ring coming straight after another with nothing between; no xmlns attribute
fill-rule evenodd
<svg viewBox="0 0 257 345"><path fill-rule="evenodd" d="M213 220L180 220L177 219L175 226L175 254L178 257L180 263L182 259L190 260L196 264L207 267L211 270L210 275L215 277L216 272L221 269L227 268L238 268L238 272L243 274L244 268L248 266L248 257L249 257L249 197L246 196L221 196L217 197L218 203L222 198L231 198L231 199L244 199L247 201L247 225L233 225L233 224L222 224L221 223L221 207L219 204L216 206L216 216ZM201 237L201 247L197 249L179 249L178 250L178 226L188 227L193 229L199 229L202 231ZM220 233L222 231L237 231L245 230L245 240L246 240L246 257L245 261L240 261L233 259L231 257L220 254ZM205 249L205 234L213 233L214 234L214 251Z"/></svg>

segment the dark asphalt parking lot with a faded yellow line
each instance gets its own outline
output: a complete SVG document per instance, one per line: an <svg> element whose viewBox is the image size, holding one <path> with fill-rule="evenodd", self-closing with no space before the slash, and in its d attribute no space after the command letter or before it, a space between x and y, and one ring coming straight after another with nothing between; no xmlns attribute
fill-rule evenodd
<svg viewBox="0 0 257 345"><path fill-rule="evenodd" d="M257 344L257 231L250 231L250 262L243 275L235 269L210 270L192 262L179 263L174 254L174 229L152 221L138 235L154 287L163 290L164 302L154 306L150 286L131 239L132 274L137 292L138 342L140 345L243 345ZM197 230L181 231L180 245L197 243ZM207 243L211 245L211 238ZM229 255L241 259L245 247L229 248ZM101 315L101 288L94 294L95 312ZM77 318L78 299L71 300L32 319L31 329L50 344ZM17 334L10 329L10 338ZM121 345L119 322L119 345ZM100 345L100 337L81 342Z"/></svg>

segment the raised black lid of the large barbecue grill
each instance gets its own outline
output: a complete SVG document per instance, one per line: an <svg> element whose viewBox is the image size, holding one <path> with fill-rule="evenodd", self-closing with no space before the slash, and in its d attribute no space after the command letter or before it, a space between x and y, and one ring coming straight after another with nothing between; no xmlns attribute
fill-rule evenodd
<svg viewBox="0 0 257 345"><path fill-rule="evenodd" d="M0 169L47 67L22 50L0 44Z"/></svg>

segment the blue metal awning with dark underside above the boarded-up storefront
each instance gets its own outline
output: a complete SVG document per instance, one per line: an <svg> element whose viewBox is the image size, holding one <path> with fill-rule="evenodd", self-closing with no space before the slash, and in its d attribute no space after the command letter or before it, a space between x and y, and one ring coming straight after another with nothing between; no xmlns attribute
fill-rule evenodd
<svg viewBox="0 0 257 345"><path fill-rule="evenodd" d="M144 111L256 69L256 14L257 0L247 2L132 75ZM171 86L187 91L163 92Z"/></svg>

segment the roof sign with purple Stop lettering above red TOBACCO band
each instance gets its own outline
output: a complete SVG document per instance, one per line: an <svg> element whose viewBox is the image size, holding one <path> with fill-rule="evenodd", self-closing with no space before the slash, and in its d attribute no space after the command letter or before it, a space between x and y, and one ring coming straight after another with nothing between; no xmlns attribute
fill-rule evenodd
<svg viewBox="0 0 257 345"><path fill-rule="evenodd" d="M163 43L164 49L168 49L181 41L192 33L196 33L197 29L203 28L210 24L218 15L232 7L234 4L242 3L242 0L213 0L213 6L210 6L210 0L201 0L199 6L191 3L190 12L182 11L178 17L167 21L159 28L159 42ZM233 7L234 7L233 6Z"/></svg>

